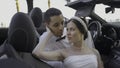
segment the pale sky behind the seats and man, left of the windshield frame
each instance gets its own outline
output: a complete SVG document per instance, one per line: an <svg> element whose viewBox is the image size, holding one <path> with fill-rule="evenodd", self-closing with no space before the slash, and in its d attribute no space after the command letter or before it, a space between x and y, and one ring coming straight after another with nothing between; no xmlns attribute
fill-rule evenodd
<svg viewBox="0 0 120 68"><path fill-rule="evenodd" d="M27 4L26 0L18 0L20 12L27 13ZM51 6L59 8L63 15L70 18L74 15L75 10L69 7L66 7L67 3L65 0L50 0ZM33 0L33 7L39 7L43 12L48 9L48 0ZM16 10L16 1L15 0L1 0L0 2L0 27L1 23L3 26L8 27L12 19L12 16L17 12ZM68 13L69 12L69 13Z"/></svg>

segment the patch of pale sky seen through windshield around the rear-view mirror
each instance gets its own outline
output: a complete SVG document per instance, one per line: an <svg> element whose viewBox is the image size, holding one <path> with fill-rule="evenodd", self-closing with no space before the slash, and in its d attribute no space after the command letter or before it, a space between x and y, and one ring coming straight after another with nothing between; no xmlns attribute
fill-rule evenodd
<svg viewBox="0 0 120 68"><path fill-rule="evenodd" d="M120 8L115 8L114 13L105 13L105 8L109 7L107 5L99 4L95 7L95 12L102 18L104 18L107 21L116 21L117 19L120 19Z"/></svg>

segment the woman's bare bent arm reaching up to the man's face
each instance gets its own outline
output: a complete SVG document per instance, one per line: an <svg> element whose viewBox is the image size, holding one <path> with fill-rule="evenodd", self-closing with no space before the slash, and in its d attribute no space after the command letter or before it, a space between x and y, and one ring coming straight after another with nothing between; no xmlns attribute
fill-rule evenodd
<svg viewBox="0 0 120 68"><path fill-rule="evenodd" d="M56 50L56 51L45 51L45 46L50 39L52 33L48 31L46 37L41 40L42 42L39 42L35 49L33 50L32 54L39 59L44 59L44 60L62 60L62 55L61 55L61 50Z"/></svg>

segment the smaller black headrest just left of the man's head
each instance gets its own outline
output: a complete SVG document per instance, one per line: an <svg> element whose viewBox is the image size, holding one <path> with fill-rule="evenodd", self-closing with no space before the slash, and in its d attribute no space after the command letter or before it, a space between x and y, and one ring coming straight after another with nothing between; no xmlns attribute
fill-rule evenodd
<svg viewBox="0 0 120 68"><path fill-rule="evenodd" d="M42 23L42 10L38 7L35 7L30 11L29 16L33 20L34 26L39 28Z"/></svg>

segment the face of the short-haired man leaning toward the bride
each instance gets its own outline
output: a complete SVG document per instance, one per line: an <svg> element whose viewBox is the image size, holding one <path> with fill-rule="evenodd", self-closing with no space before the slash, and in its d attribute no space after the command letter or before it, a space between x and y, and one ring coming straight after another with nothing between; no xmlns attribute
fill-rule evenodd
<svg viewBox="0 0 120 68"><path fill-rule="evenodd" d="M61 37L64 29L63 23L64 18L63 15L61 14L50 17L50 22L47 26L55 36Z"/></svg>

